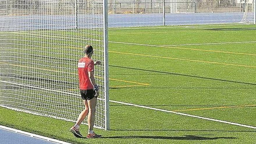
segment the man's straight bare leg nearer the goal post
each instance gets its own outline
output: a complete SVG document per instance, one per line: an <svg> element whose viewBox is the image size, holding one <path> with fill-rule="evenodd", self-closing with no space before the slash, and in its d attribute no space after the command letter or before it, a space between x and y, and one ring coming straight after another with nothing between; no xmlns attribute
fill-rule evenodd
<svg viewBox="0 0 256 144"><path fill-rule="evenodd" d="M95 119L95 110L96 110L96 102L97 98L94 97L93 99L88 100L88 108L89 108L89 113L88 113L88 131L93 130L93 125L94 125L94 119Z"/></svg>

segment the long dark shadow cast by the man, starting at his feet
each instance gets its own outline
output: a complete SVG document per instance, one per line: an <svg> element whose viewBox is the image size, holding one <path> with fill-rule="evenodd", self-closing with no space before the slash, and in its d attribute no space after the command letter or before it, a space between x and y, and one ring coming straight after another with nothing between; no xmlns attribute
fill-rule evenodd
<svg viewBox="0 0 256 144"><path fill-rule="evenodd" d="M102 138L152 138L152 139L171 139L171 140L216 140L216 139L235 139L234 137L205 137L205 136L110 136Z"/></svg>

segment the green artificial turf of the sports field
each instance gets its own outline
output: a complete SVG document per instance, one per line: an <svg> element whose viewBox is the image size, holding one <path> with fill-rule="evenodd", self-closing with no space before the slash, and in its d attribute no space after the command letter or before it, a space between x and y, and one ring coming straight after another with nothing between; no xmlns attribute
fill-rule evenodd
<svg viewBox="0 0 256 144"><path fill-rule="evenodd" d="M184 27L109 29L110 99L256 126L255 25L216 25L200 26L200 28L211 29ZM72 37L74 32L52 31L38 39L33 38L34 45L38 45L39 48L28 45L26 49L33 49L28 50L28 53L31 55L37 53L42 56L54 53L56 51L54 48L40 49L40 46L51 46L46 43L47 38L51 38L51 34L62 35L65 38L64 41L52 40L53 47L73 45L69 37ZM75 34L79 35L79 33ZM8 34L6 35L8 37ZM24 39L31 40L28 35L16 34L14 39L17 43L25 45ZM5 37L5 39L8 38ZM186 45L220 42L247 43ZM127 43L134 43L134 45ZM78 59L77 55L81 54L79 47L83 46L83 41L74 45L78 48L63 47L63 54L69 54L70 50L74 54L69 57L70 59ZM162 45L172 46L161 47ZM11 45L3 47L6 49L2 49L1 52L13 52L13 49L7 49L12 47ZM62 61L61 58L65 57L61 54L55 56L57 59L53 62ZM42 60L44 60L43 57ZM62 66L67 67L68 62L71 63L70 67L75 67L77 63L66 61ZM31 66L29 63L19 65L23 68L17 69L15 73L33 72L33 69L29 68ZM48 65L55 66L54 63ZM12 67L15 65L10 65L10 68ZM53 73L48 72L48 78ZM77 76L72 73L75 71L70 70L68 74L63 73L63 75L77 79ZM30 76L35 75L31 73ZM43 79L47 76L40 77ZM52 79L62 80L65 77L52 77ZM130 86L138 85L132 82L144 85ZM66 88L71 86L67 84ZM30 91L23 91L30 93ZM49 109L57 110L58 107L49 106ZM0 115L0 125L76 144L252 144L255 143L256 136L256 130L251 128L114 102L110 102L111 130L95 129L98 134L103 135L101 139L74 138L68 131L73 123L64 120L1 107ZM86 125L82 125L81 133L85 135L87 128Z"/></svg>

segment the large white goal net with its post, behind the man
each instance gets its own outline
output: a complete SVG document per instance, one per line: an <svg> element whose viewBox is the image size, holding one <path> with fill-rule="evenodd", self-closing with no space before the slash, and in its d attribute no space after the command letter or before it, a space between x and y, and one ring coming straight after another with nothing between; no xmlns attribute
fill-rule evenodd
<svg viewBox="0 0 256 144"><path fill-rule="evenodd" d="M106 4L0 0L0 106L75 122L84 109L77 64L92 45L92 59L102 62L95 127L109 129Z"/></svg>

